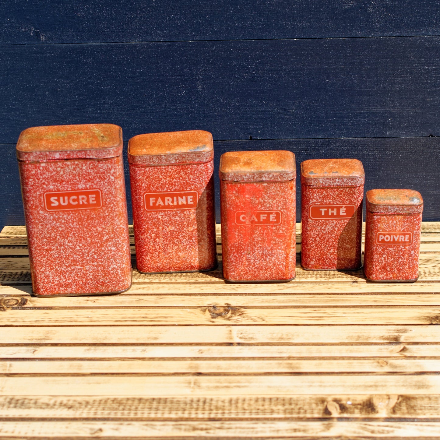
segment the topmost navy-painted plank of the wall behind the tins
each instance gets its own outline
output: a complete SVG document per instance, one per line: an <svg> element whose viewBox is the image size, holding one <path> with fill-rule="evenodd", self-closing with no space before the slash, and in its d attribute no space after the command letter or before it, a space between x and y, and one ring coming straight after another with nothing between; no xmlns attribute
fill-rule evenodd
<svg viewBox="0 0 440 440"><path fill-rule="evenodd" d="M432 1L0 3L6 44L439 35ZM114 13L117 11L117 14Z"/></svg>

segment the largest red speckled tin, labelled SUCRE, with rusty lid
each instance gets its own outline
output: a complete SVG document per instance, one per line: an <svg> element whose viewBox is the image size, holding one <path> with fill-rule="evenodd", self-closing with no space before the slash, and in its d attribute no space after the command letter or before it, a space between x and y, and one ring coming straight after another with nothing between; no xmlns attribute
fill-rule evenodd
<svg viewBox="0 0 440 440"><path fill-rule="evenodd" d="M118 293L132 282L122 130L24 130L17 143L33 292Z"/></svg>

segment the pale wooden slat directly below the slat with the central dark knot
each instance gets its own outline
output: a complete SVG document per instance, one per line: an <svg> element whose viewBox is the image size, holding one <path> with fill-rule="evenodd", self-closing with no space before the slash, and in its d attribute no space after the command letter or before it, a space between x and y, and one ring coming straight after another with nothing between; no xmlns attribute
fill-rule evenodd
<svg viewBox="0 0 440 440"><path fill-rule="evenodd" d="M3 327L0 344L406 344L438 343L440 326Z"/></svg>

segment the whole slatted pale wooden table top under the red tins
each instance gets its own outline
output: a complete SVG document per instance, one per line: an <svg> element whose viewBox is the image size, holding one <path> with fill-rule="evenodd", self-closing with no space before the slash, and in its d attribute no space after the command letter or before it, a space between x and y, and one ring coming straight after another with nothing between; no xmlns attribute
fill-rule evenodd
<svg viewBox="0 0 440 440"><path fill-rule="evenodd" d="M414 284L299 263L225 284L220 264L36 298L26 231L5 227L0 437L440 438L440 223L422 231Z"/></svg>

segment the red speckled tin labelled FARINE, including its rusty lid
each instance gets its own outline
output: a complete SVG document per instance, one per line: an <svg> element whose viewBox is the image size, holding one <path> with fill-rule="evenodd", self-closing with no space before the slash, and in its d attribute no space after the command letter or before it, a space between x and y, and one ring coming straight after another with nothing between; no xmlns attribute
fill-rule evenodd
<svg viewBox="0 0 440 440"><path fill-rule="evenodd" d="M129 140L140 272L208 271L217 266L213 159L213 137L202 130Z"/></svg>

